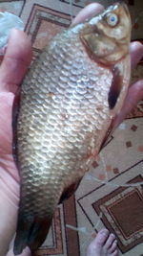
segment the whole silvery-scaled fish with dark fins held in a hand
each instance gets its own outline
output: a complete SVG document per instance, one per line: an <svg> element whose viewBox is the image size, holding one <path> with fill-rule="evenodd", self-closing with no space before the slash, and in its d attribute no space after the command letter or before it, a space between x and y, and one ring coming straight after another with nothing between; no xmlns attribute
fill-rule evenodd
<svg viewBox="0 0 143 256"><path fill-rule="evenodd" d="M13 104L21 188L14 255L45 241L112 132L131 77L131 17L116 3L55 35L31 64Z"/></svg>

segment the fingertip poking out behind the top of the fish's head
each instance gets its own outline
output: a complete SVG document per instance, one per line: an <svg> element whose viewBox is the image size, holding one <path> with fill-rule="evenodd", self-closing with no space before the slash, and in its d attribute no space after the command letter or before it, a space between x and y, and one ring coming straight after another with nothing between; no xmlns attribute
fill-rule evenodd
<svg viewBox="0 0 143 256"><path fill-rule="evenodd" d="M102 5L97 3L92 3L82 9L81 12L72 20L72 26L84 22L86 19L92 18L96 13L103 11L104 8Z"/></svg>

